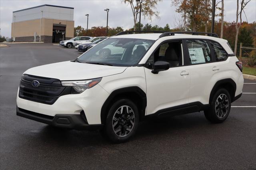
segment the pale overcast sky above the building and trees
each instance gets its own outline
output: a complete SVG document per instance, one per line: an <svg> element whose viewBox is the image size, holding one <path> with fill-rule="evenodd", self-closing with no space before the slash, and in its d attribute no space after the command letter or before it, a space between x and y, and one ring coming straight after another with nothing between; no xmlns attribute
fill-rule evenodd
<svg viewBox="0 0 256 170"><path fill-rule="evenodd" d="M162 27L169 24L170 28L174 28L176 26L174 18L178 18L179 14L175 12L176 7L171 6L171 2L172 0L163 0L158 3L157 10L160 13L160 19L153 18L150 21L142 17L141 23ZM11 36L13 11L43 4L73 7L75 26L86 28L87 17L84 16L85 14L89 14L89 28L106 26L106 11L104 11L106 8L110 9L108 26L121 26L124 30L133 26L131 7L121 0L0 0L0 34ZM225 21L236 20L236 0L224 0L224 10ZM256 0L249 2L245 12L248 22L256 21ZM244 14L242 16L242 20L246 21Z"/></svg>

